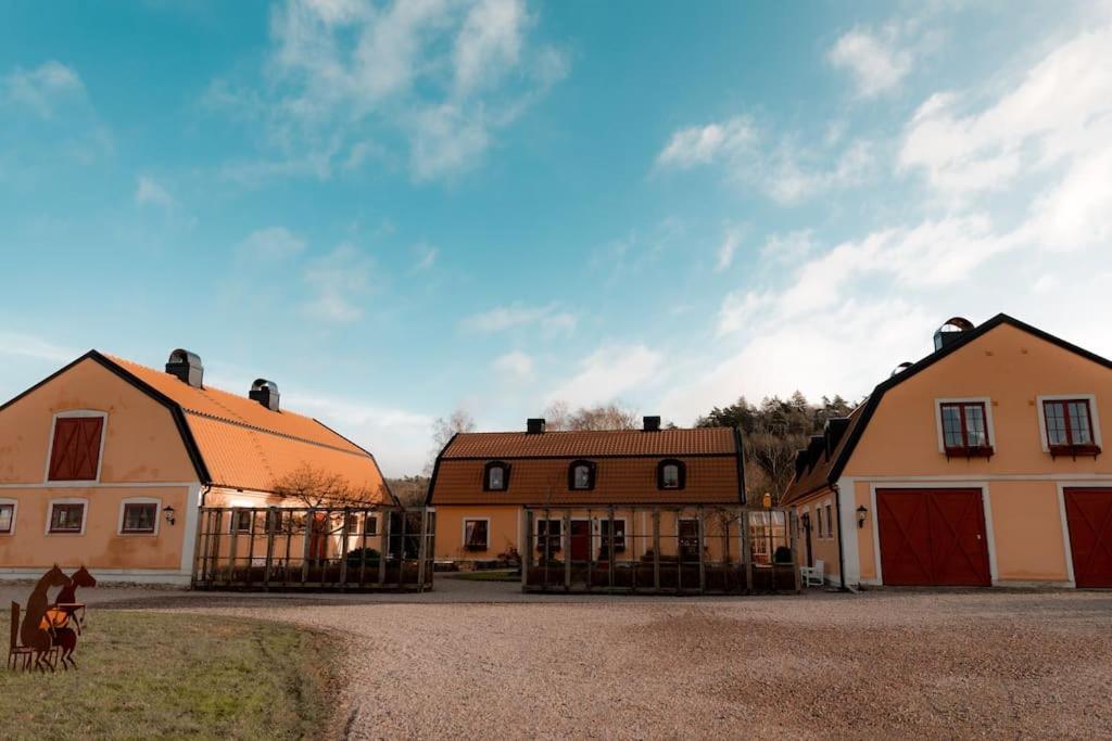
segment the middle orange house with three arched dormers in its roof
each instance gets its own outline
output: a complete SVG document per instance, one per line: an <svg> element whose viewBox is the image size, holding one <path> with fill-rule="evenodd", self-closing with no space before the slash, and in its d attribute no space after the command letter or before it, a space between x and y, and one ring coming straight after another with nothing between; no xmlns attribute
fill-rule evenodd
<svg viewBox="0 0 1112 741"><path fill-rule="evenodd" d="M570 532L558 515L538 519L533 542L566 548L575 560L606 543L626 553L651 547L648 515L633 508L654 504L671 507L659 528L673 549L683 548L695 537L695 508L744 504L744 480L741 438L728 428L662 430L659 417L646 417L643 430L548 432L534 419L526 432L460 433L437 457L429 483L436 558L520 553L526 507L572 508Z"/></svg>

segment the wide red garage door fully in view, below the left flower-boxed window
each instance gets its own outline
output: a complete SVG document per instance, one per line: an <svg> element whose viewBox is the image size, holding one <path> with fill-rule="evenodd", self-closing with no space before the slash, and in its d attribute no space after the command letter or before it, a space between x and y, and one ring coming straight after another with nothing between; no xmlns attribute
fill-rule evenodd
<svg viewBox="0 0 1112 741"><path fill-rule="evenodd" d="M881 572L901 587L987 587L979 489L878 489Z"/></svg>

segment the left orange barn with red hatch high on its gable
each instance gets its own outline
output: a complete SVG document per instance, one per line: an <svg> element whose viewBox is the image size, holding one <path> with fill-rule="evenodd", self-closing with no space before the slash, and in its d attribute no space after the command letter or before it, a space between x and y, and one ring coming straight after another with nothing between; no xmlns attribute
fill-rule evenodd
<svg viewBox="0 0 1112 741"><path fill-rule="evenodd" d="M191 352L162 372L90 351L0 407L0 578L58 563L187 584L199 508L282 504L276 483L305 465L393 500L369 452L281 409L270 381L238 395Z"/></svg>

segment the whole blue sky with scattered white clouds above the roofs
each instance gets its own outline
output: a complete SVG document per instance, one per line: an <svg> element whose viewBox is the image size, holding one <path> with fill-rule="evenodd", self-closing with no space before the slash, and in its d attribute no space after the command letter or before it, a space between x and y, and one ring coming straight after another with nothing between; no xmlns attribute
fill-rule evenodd
<svg viewBox="0 0 1112 741"><path fill-rule="evenodd" d="M1112 356L1112 6L0 9L0 397L89 348L418 471L433 419L861 397L946 318Z"/></svg>

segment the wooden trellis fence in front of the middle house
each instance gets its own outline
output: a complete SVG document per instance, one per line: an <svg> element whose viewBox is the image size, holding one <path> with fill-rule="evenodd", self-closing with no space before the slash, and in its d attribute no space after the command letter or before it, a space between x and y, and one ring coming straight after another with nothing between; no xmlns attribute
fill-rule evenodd
<svg viewBox="0 0 1112 741"><path fill-rule="evenodd" d="M798 592L787 510L716 505L527 507L527 592Z"/></svg>

